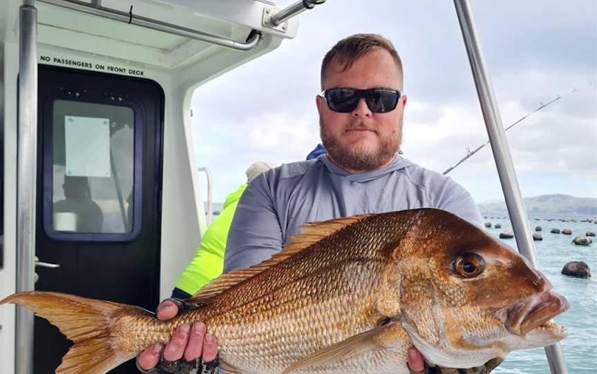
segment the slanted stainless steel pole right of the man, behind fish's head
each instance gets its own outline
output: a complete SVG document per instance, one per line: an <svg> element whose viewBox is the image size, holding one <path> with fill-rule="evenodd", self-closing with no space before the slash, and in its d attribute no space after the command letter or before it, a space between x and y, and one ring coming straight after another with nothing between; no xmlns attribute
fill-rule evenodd
<svg viewBox="0 0 597 374"><path fill-rule="evenodd" d="M518 179L514 170L514 164L510 155L510 148L506 139L506 132L502 125L500 109L495 100L493 84L489 78L489 73L485 66L485 59L481 52L480 43L475 31L473 16L470 11L468 0L454 0L468 61L471 63L477 95L481 104L485 126L493 150L493 159L498 167L498 175L506 206L512 222L512 228L516 237L516 244L520 253L529 259L533 266L537 266L537 256L535 254L535 244L533 244L533 233L527 217L527 210L524 208L522 194L518 186ZM564 356L560 344L553 344L545 348L549 367L553 374L567 374L568 369L564 362Z"/></svg>

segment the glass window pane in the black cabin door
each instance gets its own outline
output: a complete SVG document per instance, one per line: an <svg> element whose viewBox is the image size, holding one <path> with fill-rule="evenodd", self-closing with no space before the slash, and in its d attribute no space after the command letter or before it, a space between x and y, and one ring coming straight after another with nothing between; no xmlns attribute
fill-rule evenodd
<svg viewBox="0 0 597 374"><path fill-rule="evenodd" d="M139 210L133 108L55 99L50 118L44 150L46 233L66 240L133 237Z"/></svg>

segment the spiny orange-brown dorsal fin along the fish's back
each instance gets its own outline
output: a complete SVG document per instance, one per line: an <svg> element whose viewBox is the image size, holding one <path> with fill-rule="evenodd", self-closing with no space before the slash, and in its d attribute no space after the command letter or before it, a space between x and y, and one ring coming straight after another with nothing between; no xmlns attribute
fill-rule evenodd
<svg viewBox="0 0 597 374"><path fill-rule="evenodd" d="M339 231L341 228L344 228L350 224L354 224L354 222L358 222L368 216L370 215L354 215L352 217L330 219L323 222L312 222L305 226L301 226L301 233L299 235L292 235L290 237L290 243L284 244L279 253L276 253L269 259L266 259L264 262L260 262L259 264L250 266L249 268L231 271L230 273L220 275L205 285L205 287L201 288L201 290L191 297L189 301L206 302L206 300L210 297L214 297L226 291L228 288L243 282L245 279L249 279L250 277L257 275L264 270L271 268L272 266L284 261L288 257L301 252L301 250L307 248L311 244L319 242L319 240L323 239L324 237L328 237L329 235Z"/></svg>

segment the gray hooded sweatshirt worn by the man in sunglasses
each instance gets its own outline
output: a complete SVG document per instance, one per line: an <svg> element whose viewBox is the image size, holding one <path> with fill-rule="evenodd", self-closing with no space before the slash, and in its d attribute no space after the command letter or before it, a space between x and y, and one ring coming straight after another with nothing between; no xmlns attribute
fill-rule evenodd
<svg viewBox="0 0 597 374"><path fill-rule="evenodd" d="M269 259L307 222L414 208L448 210L482 226L468 191L399 155L385 168L358 174L339 168L327 155L284 164L258 175L240 197L224 272Z"/></svg>

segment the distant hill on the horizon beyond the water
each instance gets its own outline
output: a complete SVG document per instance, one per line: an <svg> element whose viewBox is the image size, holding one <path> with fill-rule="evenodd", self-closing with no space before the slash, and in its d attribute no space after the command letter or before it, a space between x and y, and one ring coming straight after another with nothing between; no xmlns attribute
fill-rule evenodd
<svg viewBox="0 0 597 374"><path fill-rule="evenodd" d="M593 197L576 197L571 195L540 195L525 197L524 206L529 214L552 215L597 215L597 199ZM507 213L506 203L498 201L480 204L482 213Z"/></svg>

